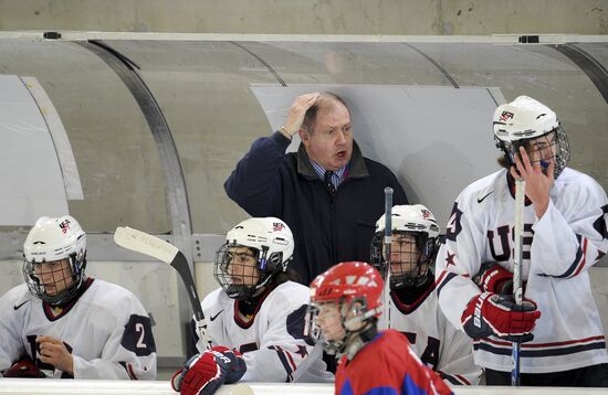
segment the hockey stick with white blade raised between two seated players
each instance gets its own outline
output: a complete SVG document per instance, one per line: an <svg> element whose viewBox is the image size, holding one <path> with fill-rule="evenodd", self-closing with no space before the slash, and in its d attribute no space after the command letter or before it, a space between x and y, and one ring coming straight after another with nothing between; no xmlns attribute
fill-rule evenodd
<svg viewBox="0 0 608 395"><path fill-rule="evenodd" d="M118 226L116 228L114 242L120 247L151 256L153 258L169 264L177 270L186 286L190 305L195 311L197 332L206 348L208 350L211 349L211 340L207 333L207 320L202 313L200 299L186 256L184 256L175 245L128 226Z"/></svg>

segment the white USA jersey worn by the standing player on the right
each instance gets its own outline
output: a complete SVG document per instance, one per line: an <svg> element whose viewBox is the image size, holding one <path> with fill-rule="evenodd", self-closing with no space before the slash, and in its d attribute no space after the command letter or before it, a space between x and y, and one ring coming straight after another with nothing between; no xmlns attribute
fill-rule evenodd
<svg viewBox="0 0 608 395"><path fill-rule="evenodd" d="M454 203L436 274L440 307L454 325L461 325L467 303L480 293L471 278L482 263L497 261L513 271L513 183L503 169L465 188ZM527 281L524 296L538 303L541 318L534 340L522 344L523 373L608 362L588 275L608 249L607 212L601 186L568 168L555 180L542 218L526 205L522 279ZM475 362L511 371L511 342L494 337L475 340Z"/></svg>

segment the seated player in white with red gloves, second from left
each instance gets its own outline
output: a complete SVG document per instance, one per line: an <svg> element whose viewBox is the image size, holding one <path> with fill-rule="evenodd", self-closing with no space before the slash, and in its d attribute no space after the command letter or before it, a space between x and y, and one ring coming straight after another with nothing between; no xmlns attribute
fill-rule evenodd
<svg viewBox="0 0 608 395"><path fill-rule="evenodd" d="M242 381L333 380L321 355L315 356L316 361L307 360L314 346L305 334L310 290L292 280L295 274L289 264L293 248L287 225L279 218L264 217L249 218L234 226L216 253L213 275L220 288L209 293L201 306L212 344L242 354L247 364ZM205 351L200 340L197 348ZM216 372L217 362L200 360L199 365L206 366L196 367ZM185 375L186 378L195 377ZM218 383L218 378L205 373L196 378L206 394L212 393L207 392L208 385L217 389L223 380L220 377Z"/></svg>

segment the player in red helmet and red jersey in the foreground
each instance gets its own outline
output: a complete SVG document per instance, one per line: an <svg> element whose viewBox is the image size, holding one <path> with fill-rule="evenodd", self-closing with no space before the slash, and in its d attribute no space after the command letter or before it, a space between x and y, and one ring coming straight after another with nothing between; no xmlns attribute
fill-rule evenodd
<svg viewBox="0 0 608 395"><path fill-rule="evenodd" d="M379 332L382 278L360 261L338 264L311 284L311 327L339 360L336 394L451 394L405 335Z"/></svg>

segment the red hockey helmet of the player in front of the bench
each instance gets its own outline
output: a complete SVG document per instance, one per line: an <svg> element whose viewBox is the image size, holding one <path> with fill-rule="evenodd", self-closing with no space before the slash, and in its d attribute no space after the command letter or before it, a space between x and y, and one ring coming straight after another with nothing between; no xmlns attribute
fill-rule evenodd
<svg viewBox="0 0 608 395"><path fill-rule="evenodd" d="M378 317L382 287L382 278L374 266L364 261L343 261L311 282L311 299L313 303L337 301L347 305L355 299L363 300L366 318Z"/></svg>

